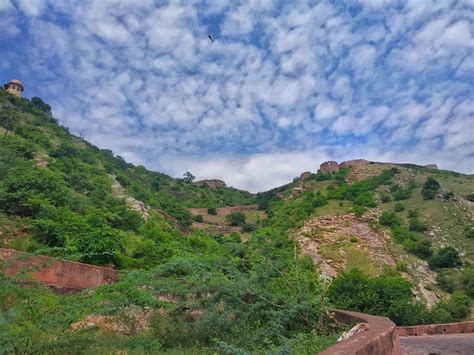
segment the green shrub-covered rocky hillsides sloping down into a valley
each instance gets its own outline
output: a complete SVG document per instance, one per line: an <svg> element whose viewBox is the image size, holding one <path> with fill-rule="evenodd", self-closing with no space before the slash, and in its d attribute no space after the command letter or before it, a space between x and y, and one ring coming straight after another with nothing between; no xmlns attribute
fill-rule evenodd
<svg viewBox="0 0 474 355"><path fill-rule="evenodd" d="M0 273L0 354L314 354L334 307L470 317L472 175L369 164L252 195L129 164L38 98L0 105L0 247L121 270L72 296Z"/></svg>

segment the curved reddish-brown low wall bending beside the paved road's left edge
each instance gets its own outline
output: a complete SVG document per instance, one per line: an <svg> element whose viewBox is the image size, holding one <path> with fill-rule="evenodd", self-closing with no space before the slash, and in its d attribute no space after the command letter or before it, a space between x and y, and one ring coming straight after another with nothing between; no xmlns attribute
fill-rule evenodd
<svg viewBox="0 0 474 355"><path fill-rule="evenodd" d="M331 346L321 355L401 354L397 329L390 319L342 310L335 310L335 315L341 323L367 323L369 329Z"/></svg>

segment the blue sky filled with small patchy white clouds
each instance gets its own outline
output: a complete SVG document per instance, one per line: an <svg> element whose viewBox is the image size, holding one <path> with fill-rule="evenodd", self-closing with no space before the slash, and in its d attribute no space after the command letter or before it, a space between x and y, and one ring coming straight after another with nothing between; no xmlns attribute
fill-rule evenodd
<svg viewBox="0 0 474 355"><path fill-rule="evenodd" d="M0 0L0 48L3 82L175 177L256 192L357 158L474 173L474 0Z"/></svg>

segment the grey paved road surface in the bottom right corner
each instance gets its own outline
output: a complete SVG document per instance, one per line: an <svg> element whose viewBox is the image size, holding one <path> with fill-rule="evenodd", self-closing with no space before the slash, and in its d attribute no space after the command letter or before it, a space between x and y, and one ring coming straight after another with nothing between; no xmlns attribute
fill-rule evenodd
<svg viewBox="0 0 474 355"><path fill-rule="evenodd" d="M400 337L404 355L472 355L474 333Z"/></svg>

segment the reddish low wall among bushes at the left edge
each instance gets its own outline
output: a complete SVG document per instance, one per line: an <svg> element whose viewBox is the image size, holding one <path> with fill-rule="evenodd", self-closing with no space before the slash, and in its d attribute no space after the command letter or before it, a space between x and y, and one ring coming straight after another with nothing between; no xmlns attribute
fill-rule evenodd
<svg viewBox="0 0 474 355"><path fill-rule="evenodd" d="M0 248L0 270L9 277L40 281L62 293L113 283L117 271L111 268L35 256L13 249Z"/></svg>

